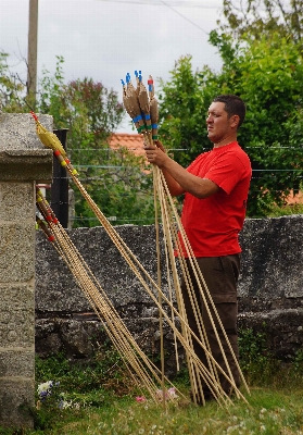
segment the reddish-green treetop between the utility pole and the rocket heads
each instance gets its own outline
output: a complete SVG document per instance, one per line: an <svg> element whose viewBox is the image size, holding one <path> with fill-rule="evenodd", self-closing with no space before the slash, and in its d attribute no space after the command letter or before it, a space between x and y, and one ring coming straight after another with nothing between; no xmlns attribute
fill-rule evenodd
<svg viewBox="0 0 303 435"><path fill-rule="evenodd" d="M63 63L58 57L54 76L43 71L39 110L53 116L54 128L70 129L71 150L100 147L122 121L123 107L116 92L100 82L86 77L65 84Z"/></svg>

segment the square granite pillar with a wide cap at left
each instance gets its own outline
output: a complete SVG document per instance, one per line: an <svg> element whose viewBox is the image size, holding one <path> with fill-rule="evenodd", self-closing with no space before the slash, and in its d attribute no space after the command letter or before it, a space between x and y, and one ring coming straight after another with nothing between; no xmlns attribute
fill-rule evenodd
<svg viewBox="0 0 303 435"><path fill-rule="evenodd" d="M52 130L52 116L40 115ZM52 151L28 113L0 115L0 426L33 426L35 406L35 184Z"/></svg>

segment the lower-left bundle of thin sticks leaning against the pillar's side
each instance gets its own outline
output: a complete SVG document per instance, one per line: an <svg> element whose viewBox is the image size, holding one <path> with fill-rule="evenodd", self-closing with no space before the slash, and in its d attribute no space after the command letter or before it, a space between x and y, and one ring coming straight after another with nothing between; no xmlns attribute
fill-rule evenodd
<svg viewBox="0 0 303 435"><path fill-rule="evenodd" d="M171 399L185 398L167 377L164 378L163 389L163 380L160 370L150 361L132 338L108 298L106 293L102 289L68 234L58 221L39 188L36 188L36 203L42 215L42 219L36 216L37 224L65 261L79 288L84 291L111 341L122 357L129 374L134 378L135 385L141 389L142 395L150 394L155 402L159 402L159 391L162 390L165 394L167 386L173 387L177 393L174 396L169 396ZM162 386L162 389L160 386Z"/></svg>

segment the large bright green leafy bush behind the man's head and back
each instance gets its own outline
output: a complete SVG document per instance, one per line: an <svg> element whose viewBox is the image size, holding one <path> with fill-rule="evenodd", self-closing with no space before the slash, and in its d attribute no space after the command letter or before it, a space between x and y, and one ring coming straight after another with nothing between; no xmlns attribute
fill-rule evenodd
<svg viewBox="0 0 303 435"><path fill-rule="evenodd" d="M282 206L290 190L299 189L302 177L300 50L278 34L248 40L225 64L222 78L225 92L240 95L248 105L239 134L253 165L248 214L267 215L273 203Z"/></svg>

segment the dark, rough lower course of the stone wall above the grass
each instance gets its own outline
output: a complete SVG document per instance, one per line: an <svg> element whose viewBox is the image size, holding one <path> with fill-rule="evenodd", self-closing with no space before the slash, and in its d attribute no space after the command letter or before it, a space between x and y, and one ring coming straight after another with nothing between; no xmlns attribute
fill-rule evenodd
<svg viewBox="0 0 303 435"><path fill-rule="evenodd" d="M175 319L179 328L178 319ZM124 324L147 355L160 352L159 318L126 318ZM254 335L265 334L266 346L273 355L288 361L303 345L303 309L274 310L273 312L247 312L238 315L239 328L252 328ZM63 351L67 358L90 358L108 336L100 320L93 313L81 313L75 319L36 319L36 352L42 358L53 351ZM167 370L174 373L174 334L164 322L164 344L167 351ZM178 343L179 358L185 352Z"/></svg>

